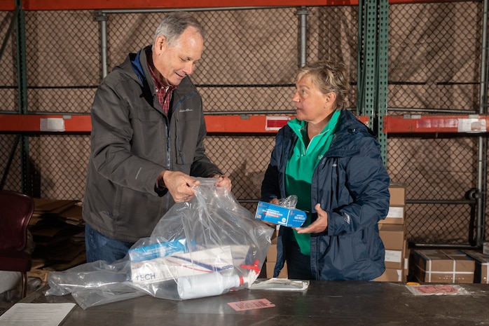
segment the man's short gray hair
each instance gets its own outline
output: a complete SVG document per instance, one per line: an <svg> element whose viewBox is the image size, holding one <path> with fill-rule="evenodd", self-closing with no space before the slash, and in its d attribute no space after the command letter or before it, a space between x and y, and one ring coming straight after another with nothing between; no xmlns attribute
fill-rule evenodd
<svg viewBox="0 0 489 326"><path fill-rule="evenodd" d="M168 45L172 46L174 41L177 41L187 27L195 28L202 36L202 39L205 39L205 32L202 25L200 25L200 22L191 13L176 11L165 15L165 18L160 22L153 38L153 46L156 38L160 35L166 36Z"/></svg>

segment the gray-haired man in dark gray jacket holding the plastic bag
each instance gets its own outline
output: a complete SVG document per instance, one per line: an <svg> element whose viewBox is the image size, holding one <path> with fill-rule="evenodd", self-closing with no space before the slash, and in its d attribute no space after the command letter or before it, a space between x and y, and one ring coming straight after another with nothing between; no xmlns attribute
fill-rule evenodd
<svg viewBox="0 0 489 326"><path fill-rule="evenodd" d="M192 198L191 175L217 177L230 190L205 155L202 99L189 78L203 48L192 15L168 14L153 45L128 55L97 89L83 201L87 262L125 257L174 203Z"/></svg>

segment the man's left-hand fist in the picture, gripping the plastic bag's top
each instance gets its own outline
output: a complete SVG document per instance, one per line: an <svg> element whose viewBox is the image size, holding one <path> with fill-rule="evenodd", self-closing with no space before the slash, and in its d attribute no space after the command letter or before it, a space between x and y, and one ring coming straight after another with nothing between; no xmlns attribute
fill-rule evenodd
<svg viewBox="0 0 489 326"><path fill-rule="evenodd" d="M163 170L158 176L158 180L163 180L165 187L172 195L175 203L190 201L195 195L194 186L198 186L200 182L193 179L190 175L184 172Z"/></svg>

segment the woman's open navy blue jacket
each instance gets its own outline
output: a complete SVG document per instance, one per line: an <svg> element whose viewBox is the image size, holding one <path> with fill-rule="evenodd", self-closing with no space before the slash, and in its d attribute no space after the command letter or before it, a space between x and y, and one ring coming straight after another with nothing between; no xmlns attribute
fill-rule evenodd
<svg viewBox="0 0 489 326"><path fill-rule="evenodd" d="M261 201L286 197L284 172L297 139L289 125L277 133ZM317 203L328 213L327 229L311 234L310 267L317 280L373 280L385 271L378 222L389 210L389 183L375 135L349 111L341 111L331 146L312 175L312 221ZM288 233L281 226L275 277L284 266Z"/></svg>

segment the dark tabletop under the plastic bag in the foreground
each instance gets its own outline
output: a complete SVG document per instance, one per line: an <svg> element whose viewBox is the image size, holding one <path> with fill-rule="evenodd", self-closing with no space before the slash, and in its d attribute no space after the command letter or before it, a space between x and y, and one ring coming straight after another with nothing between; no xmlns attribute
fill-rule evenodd
<svg viewBox="0 0 489 326"><path fill-rule="evenodd" d="M240 290L184 301L144 295L85 310L77 305L61 325L489 325L489 285L459 286L469 294L414 295L404 283L311 281L305 292ZM71 294L46 297L43 290L22 302L74 302ZM256 299L275 306L237 311L229 305Z"/></svg>

